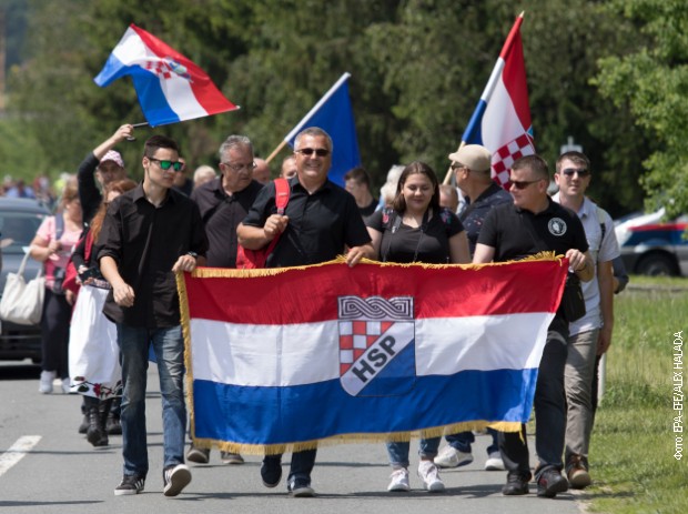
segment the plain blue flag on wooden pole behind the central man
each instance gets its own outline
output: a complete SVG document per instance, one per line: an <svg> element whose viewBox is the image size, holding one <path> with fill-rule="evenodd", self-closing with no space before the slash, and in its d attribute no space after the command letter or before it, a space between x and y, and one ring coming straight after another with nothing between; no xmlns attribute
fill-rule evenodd
<svg viewBox="0 0 688 514"><path fill-rule="evenodd" d="M346 172L361 165L354 111L348 98L350 77L351 73L344 73L284 138L284 141L294 148L299 132L308 127L320 127L327 132L334 147L328 179L342 187L344 187Z"/></svg>

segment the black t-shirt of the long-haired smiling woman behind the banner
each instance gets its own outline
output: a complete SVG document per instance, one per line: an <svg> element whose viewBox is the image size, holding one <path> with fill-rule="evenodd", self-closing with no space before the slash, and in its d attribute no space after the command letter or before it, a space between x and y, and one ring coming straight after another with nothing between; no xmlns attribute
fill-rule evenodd
<svg viewBox="0 0 688 514"><path fill-rule="evenodd" d="M392 209L375 212L366 224L382 232L380 259L385 262L425 262L446 264L451 262L449 238L464 231L456 214L441 209L427 221L427 226L405 225L402 213Z"/></svg>

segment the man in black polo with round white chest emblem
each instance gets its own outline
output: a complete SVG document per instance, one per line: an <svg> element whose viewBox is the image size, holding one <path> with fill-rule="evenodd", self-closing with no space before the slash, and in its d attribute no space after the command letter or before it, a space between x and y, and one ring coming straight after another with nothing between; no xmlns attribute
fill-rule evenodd
<svg viewBox="0 0 688 514"><path fill-rule="evenodd" d="M539 155L516 161L510 172L512 204L495 206L478 235L474 263L504 262L524 259L543 251L566 255L569 272L581 281L593 279L594 265L580 220L573 211L555 203L547 195L549 172ZM527 292L524 292L527 294ZM561 476L564 436L566 432L566 364L568 322L559 308L547 330L547 342L538 367L535 389L537 495L554 497L568 490ZM502 488L505 495L528 493L530 464L526 426L520 432L499 432L499 451L508 472Z"/></svg>

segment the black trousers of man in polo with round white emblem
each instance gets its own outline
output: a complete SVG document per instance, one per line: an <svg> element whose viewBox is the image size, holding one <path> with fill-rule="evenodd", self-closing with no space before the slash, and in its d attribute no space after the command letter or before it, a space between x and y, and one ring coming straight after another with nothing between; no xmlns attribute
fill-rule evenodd
<svg viewBox="0 0 688 514"><path fill-rule="evenodd" d="M566 396L564 366L566 365L568 323L556 316L547 330L535 386L535 450L539 458L536 477L546 468L561 470L564 437L566 433ZM499 451L509 473L529 475L530 464L526 425L519 432L499 432Z"/></svg>

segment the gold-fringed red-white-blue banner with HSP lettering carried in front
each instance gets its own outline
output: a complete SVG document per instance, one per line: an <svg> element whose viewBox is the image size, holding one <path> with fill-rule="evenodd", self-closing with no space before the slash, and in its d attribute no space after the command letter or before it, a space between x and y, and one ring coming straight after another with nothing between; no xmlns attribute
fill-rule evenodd
<svg viewBox="0 0 688 514"><path fill-rule="evenodd" d="M261 454L517 431L566 271L547 259L180 274L194 442Z"/></svg>

